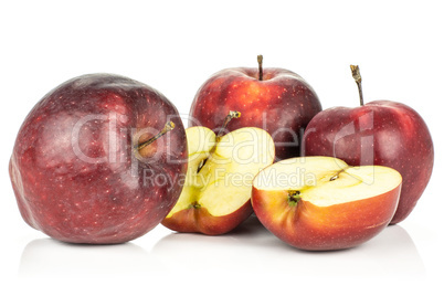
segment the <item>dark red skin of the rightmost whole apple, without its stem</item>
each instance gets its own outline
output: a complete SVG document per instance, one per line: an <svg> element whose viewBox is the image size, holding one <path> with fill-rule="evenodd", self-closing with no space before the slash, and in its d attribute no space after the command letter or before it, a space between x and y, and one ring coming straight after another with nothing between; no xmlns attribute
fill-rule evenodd
<svg viewBox="0 0 444 296"><path fill-rule="evenodd" d="M432 175L429 128L415 110L401 103L376 101L357 108L326 109L307 126L303 142L306 156L331 156L350 166L398 170L403 183L391 224L411 213Z"/></svg>

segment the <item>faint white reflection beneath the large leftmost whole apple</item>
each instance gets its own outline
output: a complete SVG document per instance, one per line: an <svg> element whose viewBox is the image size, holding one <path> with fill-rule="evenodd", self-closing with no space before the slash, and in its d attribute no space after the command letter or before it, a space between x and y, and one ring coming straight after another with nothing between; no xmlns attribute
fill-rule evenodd
<svg viewBox="0 0 444 296"><path fill-rule="evenodd" d="M149 252L134 243L77 245L53 239L38 239L23 249L19 278L145 275L157 263Z"/></svg>

